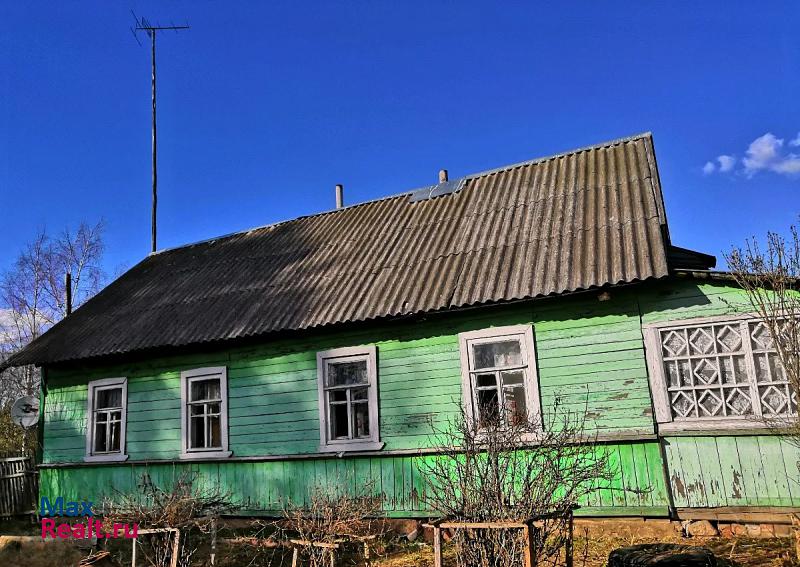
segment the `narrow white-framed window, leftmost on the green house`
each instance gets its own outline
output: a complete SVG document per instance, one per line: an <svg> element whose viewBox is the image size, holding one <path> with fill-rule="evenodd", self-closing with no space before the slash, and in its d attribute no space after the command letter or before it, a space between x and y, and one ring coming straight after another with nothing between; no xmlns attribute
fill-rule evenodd
<svg viewBox="0 0 800 567"><path fill-rule="evenodd" d="M126 378L89 382L85 461L124 461Z"/></svg>

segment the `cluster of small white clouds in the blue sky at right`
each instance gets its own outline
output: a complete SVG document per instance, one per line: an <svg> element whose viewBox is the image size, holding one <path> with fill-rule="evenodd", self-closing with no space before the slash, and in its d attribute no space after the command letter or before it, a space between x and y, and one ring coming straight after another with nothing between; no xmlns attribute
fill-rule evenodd
<svg viewBox="0 0 800 567"><path fill-rule="evenodd" d="M800 177L800 154L787 151L787 146L800 147L800 133L786 143L783 138L767 132L750 142L741 160L737 160L733 155L721 154L717 156L716 163L706 162L703 174L731 173L737 169L737 164L741 163L738 173L743 173L747 177L753 177L761 171Z"/></svg>

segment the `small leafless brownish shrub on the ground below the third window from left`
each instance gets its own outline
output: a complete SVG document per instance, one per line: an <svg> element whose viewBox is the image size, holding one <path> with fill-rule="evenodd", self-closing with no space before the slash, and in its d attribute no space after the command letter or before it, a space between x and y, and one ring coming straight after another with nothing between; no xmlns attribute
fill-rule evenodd
<svg viewBox="0 0 800 567"><path fill-rule="evenodd" d="M378 519L383 499L375 494L374 482L360 484L353 492L348 482L334 479L311 488L308 500L283 507L284 537L323 546L303 546L311 567L327 567L335 550L326 547L364 536L377 535L383 529Z"/></svg>

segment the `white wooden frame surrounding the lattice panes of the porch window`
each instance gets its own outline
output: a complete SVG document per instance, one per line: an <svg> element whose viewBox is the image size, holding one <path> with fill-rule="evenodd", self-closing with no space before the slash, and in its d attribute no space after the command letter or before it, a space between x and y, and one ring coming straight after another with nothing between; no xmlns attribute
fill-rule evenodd
<svg viewBox="0 0 800 567"><path fill-rule="evenodd" d="M726 430L750 430L769 428L769 418L760 417L760 400L753 399L757 395L755 382L750 383L751 398L750 403L753 407L752 415L745 416L714 416L701 418L679 418L672 417L672 406L670 404L667 377L664 373L664 361L661 350L661 331L669 328L685 328L692 326L704 326L710 324L742 324L759 321L760 318L752 313L718 315L713 317L695 317L691 319L673 319L658 323L646 323L642 325L642 332L645 341L645 355L647 358L647 370L650 381L650 391L653 397L653 409L658 423L658 429L663 433L681 433L694 431L726 431ZM749 331L747 341L744 342L743 351L745 353L745 367L748 378L755 380L756 371L753 367L753 353L749 342ZM755 394L753 391L755 390ZM778 418L783 419L783 418Z"/></svg>

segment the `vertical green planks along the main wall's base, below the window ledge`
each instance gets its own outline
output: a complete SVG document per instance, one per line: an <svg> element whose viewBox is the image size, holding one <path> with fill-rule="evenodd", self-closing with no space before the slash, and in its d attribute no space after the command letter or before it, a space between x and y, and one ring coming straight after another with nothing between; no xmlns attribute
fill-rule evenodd
<svg viewBox="0 0 800 567"><path fill-rule="evenodd" d="M582 515L667 514L663 471L649 462L660 461L656 442L604 445L616 463L618 475L611 489L587 499ZM389 517L427 517L426 459L432 455L294 459L260 462L169 463L107 465L102 467L45 468L41 495L96 504L115 493L136 494L137 483L147 473L154 483L168 488L187 471L196 473L198 488L215 488L230 495L240 514L280 515L284 503L307 503L315 486L330 483L355 491L374 486ZM113 487L113 489L112 489Z"/></svg>

